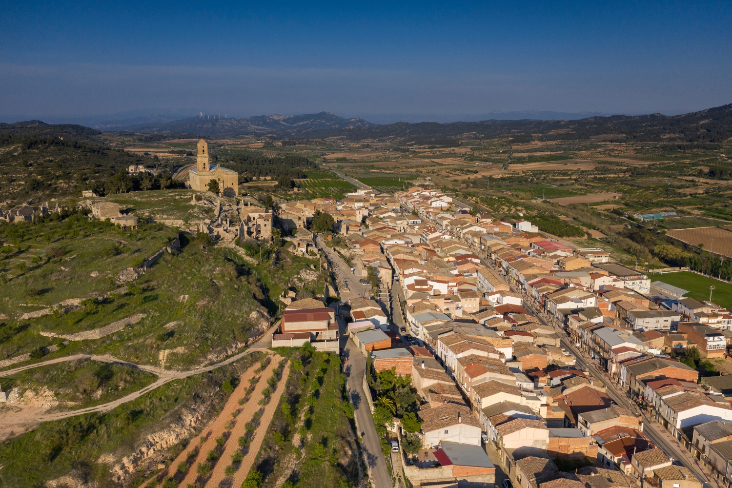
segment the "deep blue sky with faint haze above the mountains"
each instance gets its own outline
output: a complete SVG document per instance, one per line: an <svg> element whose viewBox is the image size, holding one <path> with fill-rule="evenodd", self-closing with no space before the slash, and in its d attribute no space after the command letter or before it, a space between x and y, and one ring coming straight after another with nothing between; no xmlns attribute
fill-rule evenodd
<svg viewBox="0 0 732 488"><path fill-rule="evenodd" d="M0 113L671 114L732 102L732 2L110 3L2 1Z"/></svg>

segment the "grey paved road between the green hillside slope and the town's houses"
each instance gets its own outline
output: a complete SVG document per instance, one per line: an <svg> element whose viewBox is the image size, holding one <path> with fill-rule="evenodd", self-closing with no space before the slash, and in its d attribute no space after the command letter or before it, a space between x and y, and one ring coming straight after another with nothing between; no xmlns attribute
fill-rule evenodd
<svg viewBox="0 0 732 488"><path fill-rule="evenodd" d="M315 244L318 248L323 249L326 257L333 265L333 272L343 282L346 283L351 293L342 293L341 299L346 296L363 296L363 287L348 266L346 261L329 247L327 247L320 237L316 237ZM346 296L344 296L346 295ZM353 298L353 297L351 297ZM341 331L341 336L346 335L345 327ZM381 440L376 434L376 427L373 424L371 409L369 408L366 394L363 389L363 380L366 372L366 358L356 347L353 341L348 340L346 348L343 350L343 356L346 357L344 372L346 374L346 389L351 403L356 408L356 424L361 432L359 435L363 438L362 448L365 455L366 464L376 483L376 488L392 488L392 477L386 468L386 459L384 453L381 452Z"/></svg>

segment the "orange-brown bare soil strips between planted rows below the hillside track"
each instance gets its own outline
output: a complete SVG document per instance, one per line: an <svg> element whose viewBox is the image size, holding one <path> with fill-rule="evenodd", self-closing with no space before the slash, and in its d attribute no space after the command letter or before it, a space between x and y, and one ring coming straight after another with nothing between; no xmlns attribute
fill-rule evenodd
<svg viewBox="0 0 732 488"><path fill-rule="evenodd" d="M234 452L241 449L239 448L238 440L246 432L246 430L244 429L244 425L247 424L248 421L252 420L253 415L256 411L263 410L264 413L262 414L259 425L254 432L253 440L250 445L247 446L247 454L244 455L244 459L242 459L242 462L239 464L239 469L236 470L234 476L231 477L233 479L231 484L227 483L227 485L231 487L242 486L244 478L247 477L249 470L252 468L254 459L259 451L262 440L264 439L264 433L269 427L269 423L272 421L272 417L275 415L275 409L277 408L277 404L280 402L280 397L282 397L282 394L285 391L285 383L287 383L287 377L290 372L290 366L288 364L283 370L280 383L277 383L277 389L275 389L275 393L272 394L272 398L269 404L267 404L264 408L261 407L260 405L258 405L258 403L259 400L262 398L262 390L267 387L266 380L267 378L272 376L272 369L275 369L275 367L277 367L277 363L282 359L282 357L275 355L270 356L270 359L271 361L269 365L266 367L266 369L264 369L264 371L260 372L258 375L254 374L254 370L257 367L256 365L251 367L250 369L247 369L247 371L242 374L239 386L236 386L236 389L231 394L231 397L229 397L228 402L226 402L226 405L224 406L219 416L215 418L211 422L211 424L206 426L205 429L203 429L201 435L198 435L196 438L191 440L189 448L179 454L179 456L168 468L163 470L163 472L157 474L158 479L163 479L164 476L168 475L175 475L178 465L183 461L187 461L190 468L185 476L180 475L180 473L178 474L177 478L180 478L179 486L185 487L187 486L187 484L195 484L195 482L198 480L201 482L205 481L204 486L206 487L218 487L221 481L227 478L224 470L228 465L231 465L231 456L234 454ZM259 378L259 382L255 386L249 401L246 402L243 406L239 406L239 399L244 398L244 389L249 386L250 378L254 378L255 376ZM221 457L217 460L217 462L215 462L214 468L212 469L212 472L208 476L208 478L201 479L196 472L196 467L199 462L206 462L206 455L209 453L209 451L216 448L216 438L223 435L223 433L225 432L225 424L226 422L232 420L231 413L235 410L239 410L239 416L237 416L236 420L232 422L234 423L234 428L231 429L230 435L226 440L223 454L221 454ZM203 443L201 443L201 438L204 439ZM188 458L188 453L192 451L193 448L198 448L198 454ZM141 486L145 485L143 484Z"/></svg>

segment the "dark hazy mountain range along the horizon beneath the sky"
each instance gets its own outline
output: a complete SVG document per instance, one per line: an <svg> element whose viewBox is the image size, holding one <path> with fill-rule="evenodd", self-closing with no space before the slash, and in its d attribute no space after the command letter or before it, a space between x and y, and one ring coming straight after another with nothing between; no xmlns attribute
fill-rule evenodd
<svg viewBox="0 0 732 488"><path fill-rule="evenodd" d="M523 113L539 116L542 113ZM543 113L546 114L546 113ZM557 113L554 113L557 114ZM567 114L565 114L567 115ZM512 138L530 140L605 140L616 142L721 143L732 138L732 104L677 116L651 113L643 116L591 116L585 119L520 119L462 122L397 122L373 124L359 117L346 119L331 112L299 116L253 116L219 119L194 116L170 120L172 116L134 116L97 123L96 130L81 125L50 125L41 121L0 124L0 133L69 135L89 137L99 130L170 135L274 135L279 138L343 137L348 140L380 139L395 144L428 143L444 146L455 138ZM434 142L440 140L439 143Z"/></svg>

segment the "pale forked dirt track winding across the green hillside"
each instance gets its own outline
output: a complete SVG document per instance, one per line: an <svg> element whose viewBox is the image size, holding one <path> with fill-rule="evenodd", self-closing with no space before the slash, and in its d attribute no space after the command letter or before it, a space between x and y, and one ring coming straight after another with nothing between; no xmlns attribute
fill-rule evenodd
<svg viewBox="0 0 732 488"><path fill-rule="evenodd" d="M270 345L272 345L272 332L277 327L277 324L275 326L272 326L266 333L264 334L261 339L259 339L257 342L255 342L252 347L247 348L247 350L244 350L242 353L236 354L235 356L231 356L228 359L225 359L223 361L220 361L216 364L212 364L210 366L201 367L201 368L195 368L190 369L187 371L168 371L166 369L160 369L158 367L149 366L147 364L133 364L127 361L122 361L120 359L116 359L113 356L96 356L93 354L76 354L74 356L65 356L63 358L56 358L51 359L48 361L42 361L40 363L35 364L29 364L27 366L18 367L14 369L8 369L7 371L0 372L0 377L11 375L15 372L24 371L26 369L32 369L37 368L41 366L45 366L48 364L58 364L65 361L75 361L77 359L94 359L95 361L102 361L107 363L113 363L113 364L120 364L122 366L132 367L135 369L141 369L142 371L151 372L154 375L158 376L158 379L154 381L153 383L150 383L148 386L145 386L144 388L139 389L138 391L133 391L130 394L125 395L122 398L113 400L112 402L102 403L102 405L95 405L94 407L89 408L81 408L79 410L68 410L65 412L55 412L55 413L45 413L42 410L38 411L37 413L33 413L31 415L24 414L23 410L20 410L19 412L5 412L4 415L0 416L0 432L15 432L15 428L21 429L21 432L25 432L27 429L31 429L34 426L38 424L42 424L44 422L49 421L55 421L60 420L61 418L69 418L69 417L75 417L84 415L85 413L94 413L94 412L108 412L109 410L112 410L113 408L119 407L119 405L122 405L127 402L132 402L134 399L138 399L143 394L148 393L149 391L153 391L155 388L159 386L165 385L165 383L170 383L173 380L181 380L183 378L188 378L189 376L193 375L199 375L203 372L209 372L213 369L220 368L222 366L226 366L227 364L231 364L234 361L238 361L239 359L242 359L247 354L255 353L255 352L261 352L266 351ZM15 434L18 434L20 432L15 432ZM2 435L0 435L0 438L2 438Z"/></svg>

